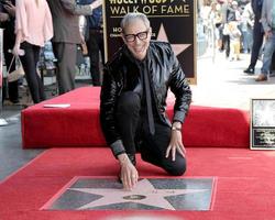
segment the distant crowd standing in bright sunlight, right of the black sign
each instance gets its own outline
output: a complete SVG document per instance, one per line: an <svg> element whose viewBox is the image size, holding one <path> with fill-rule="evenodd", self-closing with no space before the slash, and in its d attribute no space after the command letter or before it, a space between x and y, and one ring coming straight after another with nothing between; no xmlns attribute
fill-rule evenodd
<svg viewBox="0 0 275 220"><path fill-rule="evenodd" d="M274 69L275 3L272 0L205 0L200 10L209 42L229 61L239 61L240 53L251 54L243 72L255 74L255 65L263 59L255 81L265 81Z"/></svg>

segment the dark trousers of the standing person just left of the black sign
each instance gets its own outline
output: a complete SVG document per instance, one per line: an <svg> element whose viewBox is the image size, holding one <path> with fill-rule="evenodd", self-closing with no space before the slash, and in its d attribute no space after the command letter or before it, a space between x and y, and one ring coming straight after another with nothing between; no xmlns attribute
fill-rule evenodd
<svg viewBox="0 0 275 220"><path fill-rule="evenodd" d="M101 61L105 63L105 43L103 43L103 31L102 30L89 30L89 36L86 41L88 55L90 58L90 74L94 86L101 85L100 77L100 59L99 52L101 54Z"/></svg>

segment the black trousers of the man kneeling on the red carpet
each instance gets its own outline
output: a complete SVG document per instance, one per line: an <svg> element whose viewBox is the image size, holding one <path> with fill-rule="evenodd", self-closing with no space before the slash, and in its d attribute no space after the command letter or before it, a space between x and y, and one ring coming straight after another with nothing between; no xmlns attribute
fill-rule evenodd
<svg viewBox="0 0 275 220"><path fill-rule="evenodd" d="M165 169L170 175L183 175L186 170L186 158L176 153L165 157L170 141L170 128L155 120L155 134L148 131L146 116L141 114L141 98L133 91L123 92L119 97L117 124L119 124L122 142L128 154L141 153L142 160Z"/></svg>

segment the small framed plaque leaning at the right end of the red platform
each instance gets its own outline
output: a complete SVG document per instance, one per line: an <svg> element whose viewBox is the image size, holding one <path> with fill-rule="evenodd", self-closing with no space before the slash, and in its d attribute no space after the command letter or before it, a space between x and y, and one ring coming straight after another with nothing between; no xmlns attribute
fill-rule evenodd
<svg viewBox="0 0 275 220"><path fill-rule="evenodd" d="M251 100L251 150L275 150L275 99Z"/></svg>

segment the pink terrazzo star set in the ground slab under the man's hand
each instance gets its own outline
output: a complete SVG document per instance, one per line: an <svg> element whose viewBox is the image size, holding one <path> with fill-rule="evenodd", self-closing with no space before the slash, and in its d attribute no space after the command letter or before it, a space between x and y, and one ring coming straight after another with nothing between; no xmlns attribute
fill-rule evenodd
<svg viewBox="0 0 275 220"><path fill-rule="evenodd" d="M142 179L132 191L116 188L70 188L70 190L102 196L95 201L79 207L78 210L125 202L175 210L165 197L204 193L209 189L156 189L147 179Z"/></svg>

